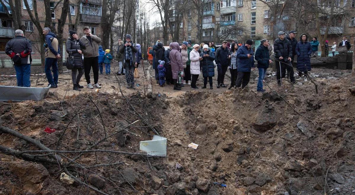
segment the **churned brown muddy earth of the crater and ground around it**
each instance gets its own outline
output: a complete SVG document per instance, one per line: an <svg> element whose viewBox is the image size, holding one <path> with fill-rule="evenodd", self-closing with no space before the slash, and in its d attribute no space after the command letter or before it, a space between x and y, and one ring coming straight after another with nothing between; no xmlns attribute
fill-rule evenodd
<svg viewBox="0 0 355 195"><path fill-rule="evenodd" d="M85 150L105 132L136 120L134 127L94 149L141 153L139 141L156 133L168 138L168 157L87 152L67 166L73 176L106 194L355 194L355 96L349 91L355 79L350 71L312 69L318 94L311 82L285 81L277 87L271 72L264 94L256 92L257 72L244 90L192 90L188 85L181 91L168 85L162 90L150 75L148 81L140 74L140 87L122 93L112 74L99 77L99 92L84 88L80 93L67 90L70 74L61 74L60 87L42 101L0 103L2 126L52 150L58 144L61 151ZM38 80L37 85L47 85L44 78ZM0 82L16 80L0 77ZM124 87L123 79L120 83ZM46 127L56 131L46 133ZM10 134L0 137L1 146L39 150ZM190 143L198 144L197 149L187 147ZM61 157L67 163L77 155ZM94 167L102 164L109 166ZM64 172L63 166L1 154L0 194L98 194L60 179Z"/></svg>

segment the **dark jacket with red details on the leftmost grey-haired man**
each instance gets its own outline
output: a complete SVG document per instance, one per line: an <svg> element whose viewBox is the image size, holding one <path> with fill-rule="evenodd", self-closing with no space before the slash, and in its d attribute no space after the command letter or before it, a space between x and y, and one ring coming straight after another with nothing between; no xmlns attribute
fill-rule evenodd
<svg viewBox="0 0 355 195"><path fill-rule="evenodd" d="M15 38L6 43L5 53L13 58L16 54L20 54L21 65L31 64L32 43L29 39L17 35Z"/></svg>

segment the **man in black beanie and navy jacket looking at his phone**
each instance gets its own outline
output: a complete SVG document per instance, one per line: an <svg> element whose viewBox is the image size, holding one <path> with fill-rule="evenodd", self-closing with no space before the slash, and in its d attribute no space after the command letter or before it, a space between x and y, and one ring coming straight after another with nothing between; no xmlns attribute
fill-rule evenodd
<svg viewBox="0 0 355 195"><path fill-rule="evenodd" d="M250 72L254 71L254 51L251 49L253 40L246 40L245 44L238 48L236 56L238 58L238 76L235 81L235 87L242 86L242 89L249 83Z"/></svg>

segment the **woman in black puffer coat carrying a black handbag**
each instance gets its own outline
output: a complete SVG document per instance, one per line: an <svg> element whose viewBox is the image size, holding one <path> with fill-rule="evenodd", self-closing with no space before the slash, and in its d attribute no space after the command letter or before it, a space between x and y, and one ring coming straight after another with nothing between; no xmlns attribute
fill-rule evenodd
<svg viewBox="0 0 355 195"><path fill-rule="evenodd" d="M83 76L83 59L81 57L81 49L85 49L85 45L79 39L78 34L75 31L69 30L70 38L65 43L66 52L68 55L71 52L71 55L74 57L74 68L71 69L71 79L73 80L73 90L80 91L80 88L84 88L79 85L80 79ZM78 75L76 75L78 72Z"/></svg>

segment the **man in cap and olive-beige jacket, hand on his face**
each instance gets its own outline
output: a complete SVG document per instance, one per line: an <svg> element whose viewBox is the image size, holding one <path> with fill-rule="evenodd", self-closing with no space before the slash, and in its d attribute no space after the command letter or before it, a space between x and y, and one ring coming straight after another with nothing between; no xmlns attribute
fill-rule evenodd
<svg viewBox="0 0 355 195"><path fill-rule="evenodd" d="M96 35L91 34L91 30L88 26L83 28L84 36L80 40L84 43L85 49L82 50L84 54L84 73L87 82L87 88L93 89L101 88L98 84L99 80L99 43L101 39ZM90 81L90 71L92 67L92 72L94 73L94 86Z"/></svg>

